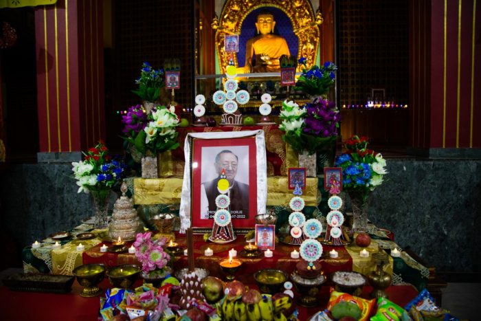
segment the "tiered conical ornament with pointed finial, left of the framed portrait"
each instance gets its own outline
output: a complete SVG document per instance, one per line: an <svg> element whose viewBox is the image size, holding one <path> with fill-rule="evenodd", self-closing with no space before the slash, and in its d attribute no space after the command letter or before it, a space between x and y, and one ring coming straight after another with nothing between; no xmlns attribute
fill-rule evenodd
<svg viewBox="0 0 481 321"><path fill-rule="evenodd" d="M132 199L128 198L127 184L125 181L120 186L122 196L113 204L112 221L109 224L109 237L112 241L122 239L122 241L135 240L138 232L142 231L142 221L137 217L137 211L133 208Z"/></svg>

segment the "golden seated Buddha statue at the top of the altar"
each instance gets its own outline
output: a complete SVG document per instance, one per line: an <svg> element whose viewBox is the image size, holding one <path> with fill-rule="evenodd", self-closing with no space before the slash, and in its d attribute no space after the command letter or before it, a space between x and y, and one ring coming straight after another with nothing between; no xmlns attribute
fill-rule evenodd
<svg viewBox="0 0 481 321"><path fill-rule="evenodd" d="M279 58L283 54L290 55L287 41L273 34L274 16L270 13L261 13L257 16L256 29L258 36L254 36L245 45L245 66L243 72L270 72L280 71ZM256 64L252 65L252 58Z"/></svg>

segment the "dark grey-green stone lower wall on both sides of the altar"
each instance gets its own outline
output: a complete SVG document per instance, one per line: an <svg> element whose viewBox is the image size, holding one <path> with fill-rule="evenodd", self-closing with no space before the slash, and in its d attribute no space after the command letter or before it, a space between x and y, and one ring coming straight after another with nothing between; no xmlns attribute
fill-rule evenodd
<svg viewBox="0 0 481 321"><path fill-rule="evenodd" d="M438 272L481 272L481 160L388 159L369 218ZM71 165L19 164L0 173L1 232L18 247L91 215Z"/></svg>

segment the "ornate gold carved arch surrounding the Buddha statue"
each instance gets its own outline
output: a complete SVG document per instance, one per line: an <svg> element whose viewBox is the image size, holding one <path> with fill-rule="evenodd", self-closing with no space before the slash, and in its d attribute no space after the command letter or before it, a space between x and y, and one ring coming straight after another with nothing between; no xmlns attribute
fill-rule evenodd
<svg viewBox="0 0 481 321"><path fill-rule="evenodd" d="M307 68L315 63L317 46L320 40L319 25L322 24L322 14L317 10L314 14L309 0L227 0L222 10L220 21L212 20L212 29L216 30L217 58L221 74L225 74L230 54L224 50L225 34L240 34L240 28L245 17L253 10L261 7L275 7L282 10L291 20L293 32L299 38L298 58L307 58ZM242 10L240 10L242 8ZM237 54L234 53L234 64L238 66ZM300 71L301 66L298 66Z"/></svg>

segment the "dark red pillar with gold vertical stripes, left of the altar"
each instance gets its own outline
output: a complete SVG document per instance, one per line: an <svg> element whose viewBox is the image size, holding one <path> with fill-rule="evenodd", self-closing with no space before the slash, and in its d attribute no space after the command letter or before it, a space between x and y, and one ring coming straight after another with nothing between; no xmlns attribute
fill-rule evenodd
<svg viewBox="0 0 481 321"><path fill-rule="evenodd" d="M41 153L86 150L105 137L102 1L35 9Z"/></svg>

